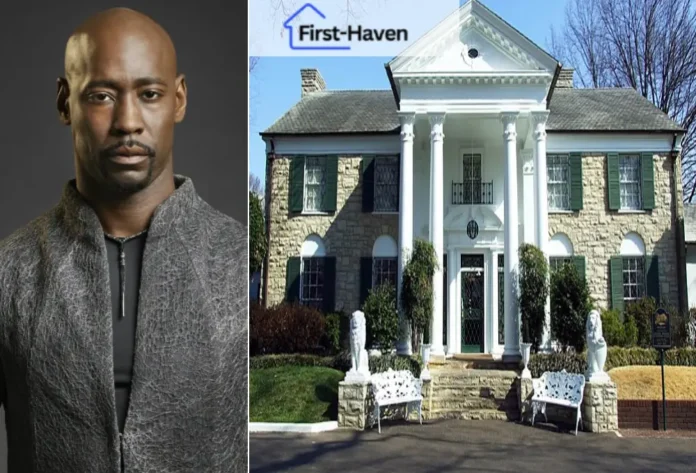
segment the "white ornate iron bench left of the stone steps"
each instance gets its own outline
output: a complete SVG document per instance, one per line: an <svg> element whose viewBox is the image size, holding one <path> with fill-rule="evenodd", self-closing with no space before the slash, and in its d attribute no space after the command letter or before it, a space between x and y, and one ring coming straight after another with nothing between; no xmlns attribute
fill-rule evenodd
<svg viewBox="0 0 696 473"><path fill-rule="evenodd" d="M382 373L374 373L370 376L370 383L375 404L374 416L377 420L379 433L382 433L380 408L383 406L406 403L406 418L408 419L410 406L418 404L418 421L423 424L421 416L423 382L413 376L413 373L408 370L394 371L390 368ZM374 419L372 425L374 426Z"/></svg>

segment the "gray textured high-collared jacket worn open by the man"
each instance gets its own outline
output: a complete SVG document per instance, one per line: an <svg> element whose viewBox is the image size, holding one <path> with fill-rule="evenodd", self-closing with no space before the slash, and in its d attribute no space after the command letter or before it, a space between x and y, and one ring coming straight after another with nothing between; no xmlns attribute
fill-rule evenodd
<svg viewBox="0 0 696 473"><path fill-rule="evenodd" d="M96 214L71 181L0 242L9 473L247 471L247 231L176 181L145 245L122 438Z"/></svg>

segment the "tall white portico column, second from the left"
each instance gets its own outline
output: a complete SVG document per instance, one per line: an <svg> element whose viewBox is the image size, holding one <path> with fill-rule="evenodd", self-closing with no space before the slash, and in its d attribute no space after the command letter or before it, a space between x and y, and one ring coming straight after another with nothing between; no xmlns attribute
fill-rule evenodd
<svg viewBox="0 0 696 473"><path fill-rule="evenodd" d="M435 248L435 258L438 262L433 276L433 323L431 331L432 344L430 353L433 357L444 357L442 346L442 307L443 307L443 274L442 256L444 252L444 189L443 189L443 132L445 114L431 113L430 117L430 156L432 173L430 175L430 237Z"/></svg>

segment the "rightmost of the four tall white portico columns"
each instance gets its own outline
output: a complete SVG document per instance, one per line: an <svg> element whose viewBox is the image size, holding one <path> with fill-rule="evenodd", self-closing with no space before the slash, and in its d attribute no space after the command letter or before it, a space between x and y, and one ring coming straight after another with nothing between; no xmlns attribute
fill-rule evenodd
<svg viewBox="0 0 696 473"><path fill-rule="evenodd" d="M546 178L546 119L548 111L532 112L532 124L534 126L534 178L536 181L536 242L539 249L546 256L548 262L549 252L549 200ZM541 348L551 348L551 300L546 298L546 322L541 340Z"/></svg>

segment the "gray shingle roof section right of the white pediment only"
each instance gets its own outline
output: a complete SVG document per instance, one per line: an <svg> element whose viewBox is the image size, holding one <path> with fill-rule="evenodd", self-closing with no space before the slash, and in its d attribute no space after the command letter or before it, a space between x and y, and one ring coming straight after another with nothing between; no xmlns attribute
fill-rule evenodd
<svg viewBox="0 0 696 473"><path fill-rule="evenodd" d="M683 131L634 89L555 89L547 130Z"/></svg>

